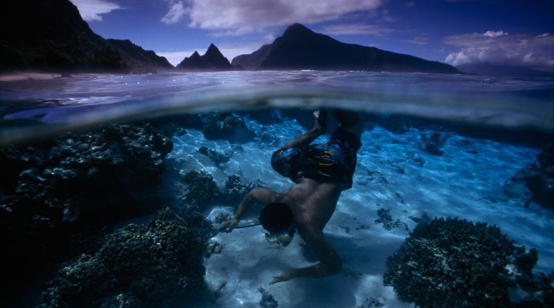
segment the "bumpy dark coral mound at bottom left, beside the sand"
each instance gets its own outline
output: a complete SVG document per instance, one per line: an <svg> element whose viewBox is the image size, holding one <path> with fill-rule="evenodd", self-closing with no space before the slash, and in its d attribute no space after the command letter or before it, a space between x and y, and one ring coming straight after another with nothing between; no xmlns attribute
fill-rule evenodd
<svg viewBox="0 0 554 308"><path fill-rule="evenodd" d="M60 267L39 307L173 307L206 290L197 212L166 208L148 226L129 224L105 237L98 251Z"/></svg>

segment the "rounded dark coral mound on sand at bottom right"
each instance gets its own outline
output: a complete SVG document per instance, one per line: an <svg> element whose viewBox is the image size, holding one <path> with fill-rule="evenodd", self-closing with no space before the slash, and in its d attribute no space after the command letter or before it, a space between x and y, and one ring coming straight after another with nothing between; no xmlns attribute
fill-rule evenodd
<svg viewBox="0 0 554 308"><path fill-rule="evenodd" d="M496 226L440 218L418 224L388 257L384 284L420 307L551 307L553 276L533 275L536 262L535 249Z"/></svg>

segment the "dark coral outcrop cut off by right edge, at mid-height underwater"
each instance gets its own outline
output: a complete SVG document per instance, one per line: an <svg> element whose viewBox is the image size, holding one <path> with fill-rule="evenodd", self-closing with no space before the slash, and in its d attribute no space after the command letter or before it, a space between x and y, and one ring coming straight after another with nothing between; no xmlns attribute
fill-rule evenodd
<svg viewBox="0 0 554 308"><path fill-rule="evenodd" d="M545 208L554 208L554 143L537 155L537 163L518 170L504 182L503 191L526 207L534 201Z"/></svg>

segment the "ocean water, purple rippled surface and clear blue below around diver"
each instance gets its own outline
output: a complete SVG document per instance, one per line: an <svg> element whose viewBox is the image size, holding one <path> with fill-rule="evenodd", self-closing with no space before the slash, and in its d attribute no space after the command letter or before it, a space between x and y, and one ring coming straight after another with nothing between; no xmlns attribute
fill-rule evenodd
<svg viewBox="0 0 554 308"><path fill-rule="evenodd" d="M190 188L183 180L190 171L206 172L221 191L229 176L240 174L242 183L280 192L294 183L272 170L271 154L310 128L313 110L348 109L361 115L366 124L353 185L341 194L324 229L341 255L343 272L270 285L275 275L316 262L307 257L300 237L281 247L265 241L261 226L216 233L206 241L211 248L220 248L202 257L204 280L208 289L215 291L195 302L195 307L275 307L267 301L260 303L260 288L278 307L414 307L384 284L383 275L387 257L400 249L422 217L458 217L498 226L518 246L537 249L534 273L548 274L554 269L552 207L536 201L525 206L523 195L508 196L506 192L510 179L537 164L537 154L553 141L552 78L258 71L76 75L1 82L0 86L2 150L37 149L51 138L64 140L66 132L88 134L110 123L167 125L170 129L163 132L173 146L161 158L163 168L157 174L159 179L152 181L150 200L154 201L150 202L195 208L210 221L217 215L232 215L237 203L220 198L191 206L186 195ZM202 128L191 123L197 115L214 111L241 118L249 138L242 138L244 132L208 138ZM336 123L331 122L328 134L314 143L325 142L333 125ZM438 153L426 148L434 133L440 134ZM70 139L71 143L77 141ZM226 159L216 162L200 153L201 147ZM86 146L78 149L89 150ZM69 154L62 151L60 155ZM3 219L14 212L6 206L14 191L8 183L26 179L33 172L21 172L3 182L2 210L8 212L2 214ZM64 198L75 201L72 193L64 192ZM75 196L78 193L75 190ZM71 205L67 208L70 210L64 210L64 215L71 217ZM379 210L391 215L388 225L376 221L382 218ZM106 224L109 228L141 224L152 212L147 208L140 219L134 219L142 216L134 212L132 217L108 219L110 224ZM256 208L249 215L255 217ZM62 221L73 223L65 216ZM94 224L87 219L76 221L79 228ZM48 241L55 242L55 237ZM66 259L56 255L56 262L36 269L42 275L27 273L9 303L33 305L44 300L41 293L59 281L51 280L57 269L79 254Z"/></svg>

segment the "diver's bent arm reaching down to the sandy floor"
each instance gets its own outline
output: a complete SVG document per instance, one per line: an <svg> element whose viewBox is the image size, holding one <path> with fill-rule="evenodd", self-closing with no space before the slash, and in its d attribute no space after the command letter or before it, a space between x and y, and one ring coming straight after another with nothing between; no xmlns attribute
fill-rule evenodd
<svg viewBox="0 0 554 308"><path fill-rule="evenodd" d="M314 233L313 235L302 235L306 244L316 254L321 262L318 264L303 267L301 269L292 269L285 271L281 275L274 277L269 284L283 282L294 278L311 277L319 278L334 275L342 271L342 262L339 253L334 250L331 243L323 236L323 233Z"/></svg>

